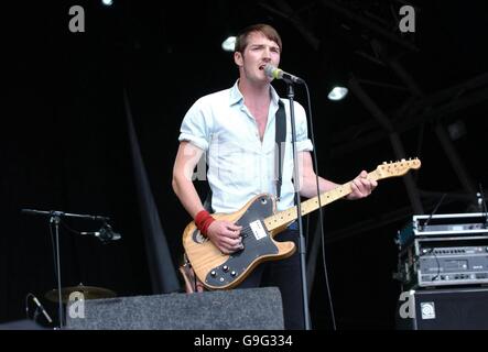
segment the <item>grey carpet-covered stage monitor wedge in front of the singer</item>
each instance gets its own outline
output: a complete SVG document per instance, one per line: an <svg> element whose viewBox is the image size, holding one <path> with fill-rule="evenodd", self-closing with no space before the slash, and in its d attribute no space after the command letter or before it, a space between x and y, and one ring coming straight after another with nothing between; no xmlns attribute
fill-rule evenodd
<svg viewBox="0 0 488 352"><path fill-rule="evenodd" d="M275 287L76 300L66 309L75 330L283 330Z"/></svg>

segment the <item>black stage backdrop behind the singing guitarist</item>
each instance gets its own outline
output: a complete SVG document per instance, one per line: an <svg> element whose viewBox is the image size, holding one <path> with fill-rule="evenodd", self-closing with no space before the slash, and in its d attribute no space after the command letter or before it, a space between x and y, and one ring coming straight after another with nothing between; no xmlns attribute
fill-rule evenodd
<svg viewBox="0 0 488 352"><path fill-rule="evenodd" d="M9 35L3 52L9 64L4 65L8 94L0 129L0 322L24 317L28 293L55 311L43 297L56 286L47 219L21 215L22 208L108 216L122 234L120 241L102 244L62 228L63 286L83 283L111 289L118 296L155 293L148 264L151 254L144 239L145 220L133 176L124 90L169 245L171 257L165 260L174 267L178 265L181 234L191 220L171 188L180 124L197 98L235 82L237 69L231 54L223 52L220 43L243 25L268 22L276 26L284 41L282 67L308 81L322 175L345 183L362 168L371 170L383 161L394 160L386 133L377 143L351 153L334 153L338 146L335 136L350 131L339 143L354 143L351 125L369 121L370 129L378 129L378 122L354 97L339 103L325 99L323 76L327 70L323 58L356 57L351 64L362 78L398 84L398 77L383 66L360 62L354 54L355 41L334 32L340 28L336 15L314 8L315 1L290 3L294 8L304 3L301 15L313 19L310 29L322 43L334 44L323 44L318 50L290 21L252 2L202 1L191 8L183 2L115 2L111 9L97 1L66 1L63 6L22 3L6 10ZM482 46L475 38L486 37L479 34L486 11L471 13L462 4L448 8L444 2L434 3L425 6L424 21L419 22L421 51L402 58L425 94L486 72L488 58L482 48L474 50ZM85 33L68 31L73 4L85 8ZM282 82L274 86L284 94ZM368 88L368 92L387 111L394 111L406 99L388 89ZM303 89L297 89L296 100L305 106ZM487 183L488 169L476 155L484 151L479 141L485 138L486 108L485 103L463 111L469 117L464 120L467 134L454 142L473 178L481 184ZM453 121L456 117L447 122ZM415 175L421 188L440 193L460 189L431 122L423 130L408 131L402 139L406 153L422 158L423 168ZM204 195L205 184L198 183L197 189ZM424 204L427 211L434 205L432 199ZM467 209L466 204L451 206L440 211ZM327 243L339 328L393 328L400 293L391 276L397 266L393 239L413 215L409 207L398 178L382 183L364 201L338 202L325 210L326 235L339 234L361 221L370 226L339 240L330 238ZM402 217L375 227L383 223L384 213L401 208L406 209ZM67 224L80 231L99 227L80 220ZM315 328L330 328L322 275L318 265L313 278L312 317Z"/></svg>

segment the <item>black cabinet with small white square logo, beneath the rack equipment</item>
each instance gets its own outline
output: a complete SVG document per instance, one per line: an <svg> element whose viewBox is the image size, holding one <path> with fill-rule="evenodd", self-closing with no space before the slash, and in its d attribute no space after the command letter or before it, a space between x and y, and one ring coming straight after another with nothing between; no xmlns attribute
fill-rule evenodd
<svg viewBox="0 0 488 352"><path fill-rule="evenodd" d="M488 288L423 289L402 293L397 328L404 330L488 329Z"/></svg>

